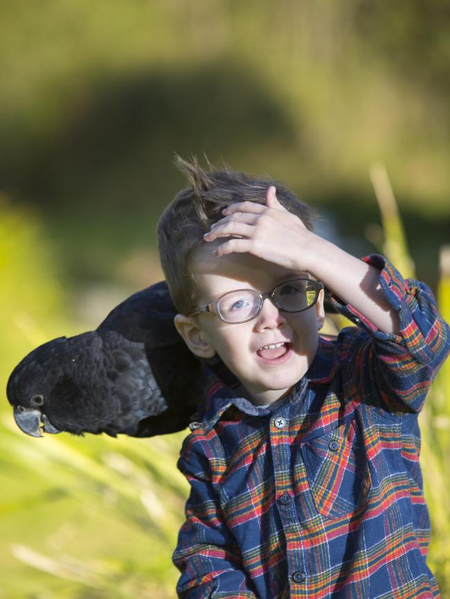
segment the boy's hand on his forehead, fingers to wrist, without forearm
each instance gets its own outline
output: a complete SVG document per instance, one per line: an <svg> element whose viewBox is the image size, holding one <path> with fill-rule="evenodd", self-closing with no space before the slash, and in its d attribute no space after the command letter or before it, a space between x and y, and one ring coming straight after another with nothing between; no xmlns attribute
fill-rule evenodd
<svg viewBox="0 0 450 599"><path fill-rule="evenodd" d="M267 190L266 205L248 201L235 203L222 214L224 218L211 226L204 240L234 239L222 243L215 250L215 256L249 252L284 268L309 270L307 258L316 235L307 230L298 216L280 204L273 185Z"/></svg>

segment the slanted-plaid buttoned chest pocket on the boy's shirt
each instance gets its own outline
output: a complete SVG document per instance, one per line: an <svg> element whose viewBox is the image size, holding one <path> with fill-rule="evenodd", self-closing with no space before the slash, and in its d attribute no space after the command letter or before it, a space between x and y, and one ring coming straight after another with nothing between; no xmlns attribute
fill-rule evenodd
<svg viewBox="0 0 450 599"><path fill-rule="evenodd" d="M349 421L301 447L316 510L333 519L366 505L371 487L362 435Z"/></svg>

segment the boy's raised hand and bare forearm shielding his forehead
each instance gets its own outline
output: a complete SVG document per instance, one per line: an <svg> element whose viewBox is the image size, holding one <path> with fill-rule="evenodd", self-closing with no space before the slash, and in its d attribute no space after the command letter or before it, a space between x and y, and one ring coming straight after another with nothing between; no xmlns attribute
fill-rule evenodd
<svg viewBox="0 0 450 599"><path fill-rule="evenodd" d="M233 237L216 248L216 256L249 252L272 264L310 273L380 331L399 330L398 314L381 291L379 270L307 230L298 216L280 204L275 187L267 190L265 206L241 202L222 213L224 218L204 235L205 241Z"/></svg>

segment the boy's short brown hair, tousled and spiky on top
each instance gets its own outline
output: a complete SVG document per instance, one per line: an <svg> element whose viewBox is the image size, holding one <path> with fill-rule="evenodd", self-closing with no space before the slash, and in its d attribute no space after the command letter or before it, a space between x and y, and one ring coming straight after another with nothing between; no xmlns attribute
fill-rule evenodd
<svg viewBox="0 0 450 599"><path fill-rule="evenodd" d="M196 157L188 162L175 156L174 163L191 187L178 192L164 210L159 219L157 236L159 258L170 297L181 314L188 315L197 303L197 285L189 268L192 252L206 243L204 233L222 218L222 210L227 206L242 201L265 204L267 188L275 185L278 201L296 214L307 229L313 229L314 210L278 181L251 178L225 164L218 169L208 162L207 171L200 167Z"/></svg>

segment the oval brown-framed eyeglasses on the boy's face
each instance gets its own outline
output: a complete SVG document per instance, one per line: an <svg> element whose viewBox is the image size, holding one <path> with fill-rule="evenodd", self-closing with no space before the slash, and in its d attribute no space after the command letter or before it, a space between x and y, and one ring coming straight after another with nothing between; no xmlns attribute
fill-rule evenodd
<svg viewBox="0 0 450 599"><path fill-rule="evenodd" d="M303 312L316 304L322 289L323 284L312 279L286 281L268 293L260 293L254 289L237 289L217 297L215 302L194 308L189 316L214 312L223 322L240 324L257 317L264 300L267 299L282 312Z"/></svg>

